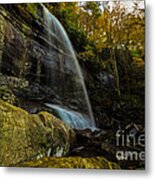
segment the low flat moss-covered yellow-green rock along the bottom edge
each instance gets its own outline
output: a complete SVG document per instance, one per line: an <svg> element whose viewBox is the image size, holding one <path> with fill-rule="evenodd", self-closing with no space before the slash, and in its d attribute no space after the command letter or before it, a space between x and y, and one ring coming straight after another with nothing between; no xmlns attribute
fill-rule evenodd
<svg viewBox="0 0 155 180"><path fill-rule="evenodd" d="M79 169L120 169L114 162L104 157L45 157L39 160L25 162L19 167L47 167L47 168L79 168Z"/></svg>

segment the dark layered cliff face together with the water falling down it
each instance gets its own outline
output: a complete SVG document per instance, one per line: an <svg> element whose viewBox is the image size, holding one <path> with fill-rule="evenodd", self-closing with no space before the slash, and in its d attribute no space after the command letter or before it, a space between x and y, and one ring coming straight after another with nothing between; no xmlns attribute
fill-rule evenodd
<svg viewBox="0 0 155 180"><path fill-rule="evenodd" d="M74 50L58 20L40 3L3 4L0 24L0 73L28 81L16 95L78 109L93 119Z"/></svg>

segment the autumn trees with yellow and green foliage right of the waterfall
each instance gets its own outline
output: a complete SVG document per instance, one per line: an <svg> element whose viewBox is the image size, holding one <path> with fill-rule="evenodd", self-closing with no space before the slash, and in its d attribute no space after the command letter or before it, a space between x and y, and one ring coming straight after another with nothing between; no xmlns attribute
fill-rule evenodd
<svg viewBox="0 0 155 180"><path fill-rule="evenodd" d="M65 27L78 59L98 63L102 69L113 74L118 96L122 91L122 75L125 77L125 89L130 91L132 84L128 76L139 74L139 68L144 67L144 1L62 2L45 5ZM121 59L116 58L117 54ZM129 60L129 54L132 60ZM129 68L131 65L132 70Z"/></svg>

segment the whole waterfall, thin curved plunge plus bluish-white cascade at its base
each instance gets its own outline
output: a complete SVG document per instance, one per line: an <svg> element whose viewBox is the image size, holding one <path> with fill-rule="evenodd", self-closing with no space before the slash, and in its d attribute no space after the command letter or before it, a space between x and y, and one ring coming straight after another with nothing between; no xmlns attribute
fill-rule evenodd
<svg viewBox="0 0 155 180"><path fill-rule="evenodd" d="M74 128L94 128L91 104L72 44L58 19L42 7L48 46L44 62L47 84L61 98L59 105L46 105Z"/></svg>

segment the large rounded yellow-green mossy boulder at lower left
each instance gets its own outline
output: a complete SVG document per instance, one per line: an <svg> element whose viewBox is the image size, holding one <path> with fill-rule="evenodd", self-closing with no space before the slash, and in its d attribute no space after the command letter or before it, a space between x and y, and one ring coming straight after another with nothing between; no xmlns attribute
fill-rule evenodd
<svg viewBox="0 0 155 180"><path fill-rule="evenodd" d="M30 115L0 100L0 164L44 156L66 155L75 139L73 130L47 112Z"/></svg>

